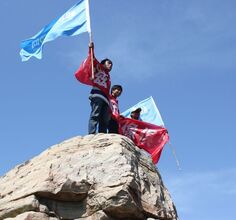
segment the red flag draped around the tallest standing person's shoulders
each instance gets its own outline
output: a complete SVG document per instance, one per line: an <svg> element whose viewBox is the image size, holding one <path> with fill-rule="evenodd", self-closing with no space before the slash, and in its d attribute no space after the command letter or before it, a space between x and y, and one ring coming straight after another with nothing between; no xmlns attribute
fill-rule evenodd
<svg viewBox="0 0 236 220"><path fill-rule="evenodd" d="M75 77L83 84L98 87L108 96L111 86L110 74L95 57L93 58L93 66L94 79L92 79L91 52L89 52L87 59L76 71Z"/></svg>

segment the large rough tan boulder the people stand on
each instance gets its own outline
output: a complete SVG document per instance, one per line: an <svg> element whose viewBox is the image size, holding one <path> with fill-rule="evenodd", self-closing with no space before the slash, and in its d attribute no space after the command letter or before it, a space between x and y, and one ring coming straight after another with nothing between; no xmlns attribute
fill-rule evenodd
<svg viewBox="0 0 236 220"><path fill-rule="evenodd" d="M176 220L151 159L115 134L74 137L0 178L0 220Z"/></svg>

